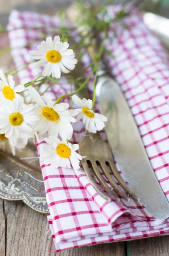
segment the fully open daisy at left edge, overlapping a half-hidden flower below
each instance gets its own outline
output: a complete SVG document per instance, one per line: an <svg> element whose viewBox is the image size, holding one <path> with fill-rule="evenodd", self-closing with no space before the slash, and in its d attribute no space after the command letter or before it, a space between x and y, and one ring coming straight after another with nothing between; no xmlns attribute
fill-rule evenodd
<svg viewBox="0 0 169 256"><path fill-rule="evenodd" d="M17 145L18 138L34 137L30 125L37 121L33 104L24 105L22 96L0 108L0 134L5 134L12 146Z"/></svg>

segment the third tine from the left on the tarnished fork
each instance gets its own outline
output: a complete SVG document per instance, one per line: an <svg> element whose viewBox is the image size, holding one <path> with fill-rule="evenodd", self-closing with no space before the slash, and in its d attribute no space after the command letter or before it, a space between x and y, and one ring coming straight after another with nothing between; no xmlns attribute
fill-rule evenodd
<svg viewBox="0 0 169 256"><path fill-rule="evenodd" d="M121 195L122 198L128 200L128 196L119 188L119 186L116 184L115 180L113 180L113 177L110 175L109 169L107 168L107 165L105 162L100 163L101 170L106 176L107 180L113 186L113 188L118 192L119 195Z"/></svg>

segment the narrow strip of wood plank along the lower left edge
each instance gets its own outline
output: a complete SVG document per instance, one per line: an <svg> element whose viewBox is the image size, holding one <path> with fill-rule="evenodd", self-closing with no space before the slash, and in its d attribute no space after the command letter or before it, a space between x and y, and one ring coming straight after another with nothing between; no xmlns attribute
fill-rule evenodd
<svg viewBox="0 0 169 256"><path fill-rule="evenodd" d="M3 208L3 200L0 199L0 255L5 256L6 253L6 216Z"/></svg>

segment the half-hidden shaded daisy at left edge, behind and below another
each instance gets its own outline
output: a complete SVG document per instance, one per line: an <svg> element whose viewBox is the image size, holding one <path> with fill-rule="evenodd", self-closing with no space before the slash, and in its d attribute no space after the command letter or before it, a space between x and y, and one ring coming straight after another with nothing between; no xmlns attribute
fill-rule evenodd
<svg viewBox="0 0 169 256"><path fill-rule="evenodd" d="M17 141L17 146L14 147L9 143L8 138L5 137L5 134L0 134L0 150L13 154L15 156L16 149L21 150L25 148L28 143L28 139L19 138Z"/></svg>

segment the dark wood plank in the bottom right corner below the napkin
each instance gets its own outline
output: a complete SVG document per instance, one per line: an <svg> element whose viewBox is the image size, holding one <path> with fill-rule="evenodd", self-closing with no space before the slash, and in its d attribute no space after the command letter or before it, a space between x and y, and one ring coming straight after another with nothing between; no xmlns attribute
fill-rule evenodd
<svg viewBox="0 0 169 256"><path fill-rule="evenodd" d="M127 256L169 256L169 236L127 242Z"/></svg>

